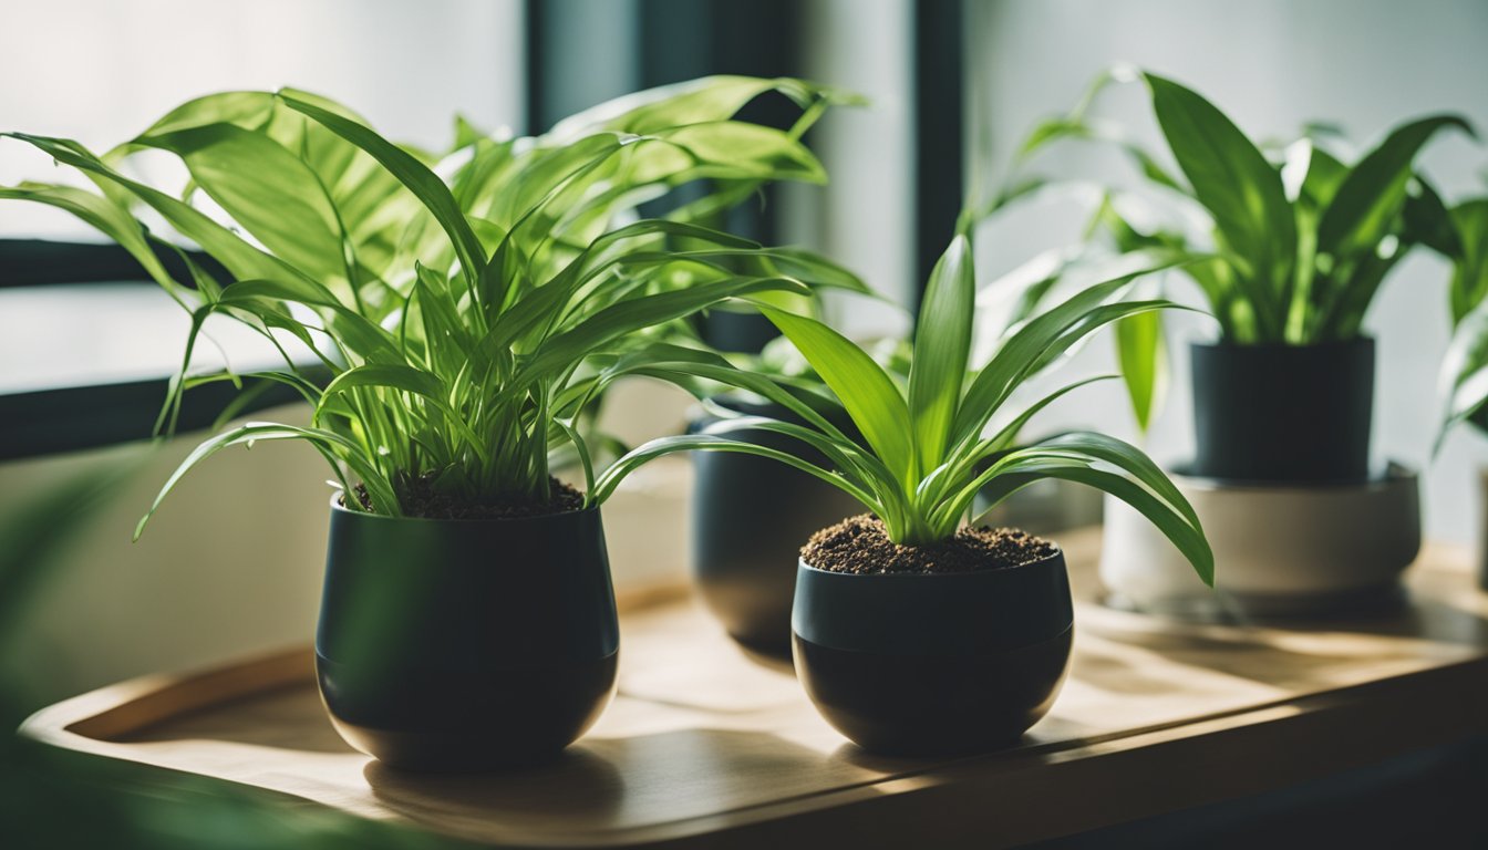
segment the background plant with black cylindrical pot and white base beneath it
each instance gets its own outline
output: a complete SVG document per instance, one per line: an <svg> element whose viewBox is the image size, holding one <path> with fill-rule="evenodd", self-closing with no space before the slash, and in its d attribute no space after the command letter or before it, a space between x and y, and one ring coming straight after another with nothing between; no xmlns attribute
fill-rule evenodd
<svg viewBox="0 0 1488 850"><path fill-rule="evenodd" d="M1086 115L1112 79L1146 86L1177 171ZM1426 241L1412 222L1428 191L1414 164L1446 130L1472 132L1434 115L1396 127L1351 164L1314 137L1271 158L1199 94L1120 68L1030 138L1028 150L1068 137L1115 141L1152 195L1205 222L1207 234L1144 231L1119 204L1100 214L1116 250L1189 255L1178 274L1219 320L1217 342L1189 345L1195 456L1178 484L1205 518L1222 598L1251 612L1390 600L1420 546L1415 475L1370 467L1375 342L1363 325L1388 274ZM1161 344L1159 326L1135 357L1150 362ZM1171 551L1150 534L1150 545L1120 537L1123 527L1116 517L1107 528L1109 542L1119 537L1103 566L1113 589L1149 607L1167 606L1165 595L1208 604L1202 588L1168 581L1181 578ZM1153 569L1164 560L1167 578Z"/></svg>

